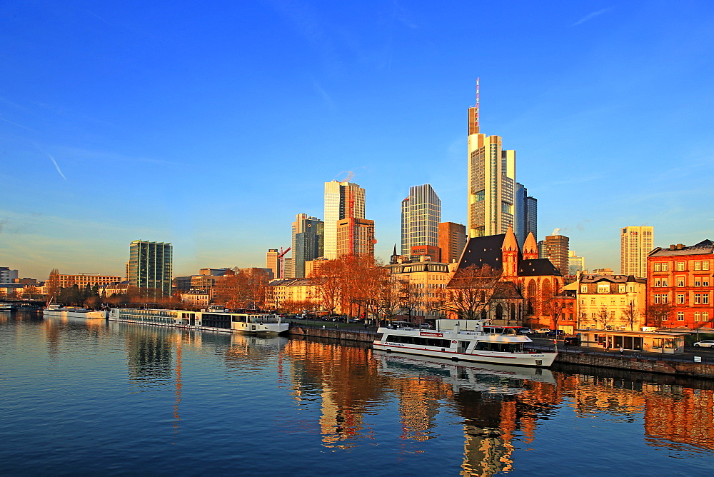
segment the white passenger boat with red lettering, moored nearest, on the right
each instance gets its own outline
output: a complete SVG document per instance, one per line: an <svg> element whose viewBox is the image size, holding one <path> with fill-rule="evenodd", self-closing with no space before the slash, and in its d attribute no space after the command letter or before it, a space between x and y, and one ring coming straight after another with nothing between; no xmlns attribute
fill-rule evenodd
<svg viewBox="0 0 714 477"><path fill-rule="evenodd" d="M513 326L493 326L483 320L436 320L436 329L385 326L373 343L380 351L515 366L548 367L556 352L527 351L531 338Z"/></svg>

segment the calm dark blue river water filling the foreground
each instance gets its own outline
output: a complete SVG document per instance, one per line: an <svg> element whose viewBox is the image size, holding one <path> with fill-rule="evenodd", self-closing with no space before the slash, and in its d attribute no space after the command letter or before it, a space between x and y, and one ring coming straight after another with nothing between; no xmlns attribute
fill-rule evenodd
<svg viewBox="0 0 714 477"><path fill-rule="evenodd" d="M714 473L714 382L0 313L1 475Z"/></svg>

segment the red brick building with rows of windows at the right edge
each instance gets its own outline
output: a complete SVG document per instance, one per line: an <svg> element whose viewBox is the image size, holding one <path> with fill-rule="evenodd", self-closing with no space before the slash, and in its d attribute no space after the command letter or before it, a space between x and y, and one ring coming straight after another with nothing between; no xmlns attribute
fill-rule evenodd
<svg viewBox="0 0 714 477"><path fill-rule="evenodd" d="M714 242L655 248L647 267L649 326L714 328Z"/></svg>

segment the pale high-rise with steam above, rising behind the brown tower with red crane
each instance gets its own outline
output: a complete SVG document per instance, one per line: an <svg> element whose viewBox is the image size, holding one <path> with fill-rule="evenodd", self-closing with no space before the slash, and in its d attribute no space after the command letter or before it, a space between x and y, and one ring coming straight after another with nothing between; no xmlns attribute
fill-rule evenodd
<svg viewBox="0 0 714 477"><path fill-rule="evenodd" d="M337 258L337 223L344 219L364 220L364 189L351 182L326 182L325 258Z"/></svg>

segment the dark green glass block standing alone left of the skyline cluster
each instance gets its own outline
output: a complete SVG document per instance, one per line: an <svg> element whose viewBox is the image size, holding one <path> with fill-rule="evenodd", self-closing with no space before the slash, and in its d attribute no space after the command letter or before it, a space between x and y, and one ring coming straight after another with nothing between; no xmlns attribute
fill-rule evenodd
<svg viewBox="0 0 714 477"><path fill-rule="evenodd" d="M171 243L134 240L129 243L129 285L149 288L160 296L171 294L173 270Z"/></svg>

